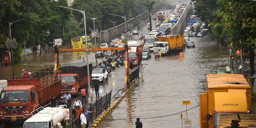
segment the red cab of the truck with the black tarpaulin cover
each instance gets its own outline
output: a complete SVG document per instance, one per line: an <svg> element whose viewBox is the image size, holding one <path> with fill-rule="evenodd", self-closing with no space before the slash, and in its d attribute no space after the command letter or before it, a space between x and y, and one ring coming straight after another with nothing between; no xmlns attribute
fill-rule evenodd
<svg viewBox="0 0 256 128"><path fill-rule="evenodd" d="M69 91L71 95L76 95L79 91L78 74L61 74L61 93Z"/></svg>

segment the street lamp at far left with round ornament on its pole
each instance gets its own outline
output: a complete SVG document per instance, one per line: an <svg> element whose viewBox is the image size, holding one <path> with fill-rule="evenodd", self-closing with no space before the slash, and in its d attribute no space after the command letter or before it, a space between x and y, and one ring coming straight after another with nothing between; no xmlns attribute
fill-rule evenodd
<svg viewBox="0 0 256 128"><path fill-rule="evenodd" d="M24 18L24 19L26 19L26 18ZM22 21L22 20L24 20L24 19L20 19L20 20L17 20L17 21L15 21L15 22ZM13 77L15 77L15 76L14 76L13 49L16 49L16 48L17 48L17 42L16 42L16 39L15 39L15 38L12 39L11 25L12 25L13 23L15 23L15 22L9 22L10 39L8 38L8 39L6 40L6 47L7 47L8 49L11 49L11 52L12 52L12 53L11 53L11 54L12 54L11 59L12 59L12 64L13 64Z"/></svg>

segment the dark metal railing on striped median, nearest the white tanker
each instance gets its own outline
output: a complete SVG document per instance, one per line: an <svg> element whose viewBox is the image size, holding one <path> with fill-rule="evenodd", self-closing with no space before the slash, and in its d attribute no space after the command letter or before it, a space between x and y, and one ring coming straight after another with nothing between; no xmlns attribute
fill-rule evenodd
<svg viewBox="0 0 256 128"><path fill-rule="evenodd" d="M101 114L111 103L111 93L106 93L103 97L100 97L98 100L96 100L95 103L90 106L87 111L96 111L97 113L90 113L89 115L89 122L93 122L93 118L96 118L99 114ZM72 115L73 116L73 115ZM81 120L80 116L76 118L75 120L72 120L69 125L66 126L66 128L82 128L81 127Z"/></svg>

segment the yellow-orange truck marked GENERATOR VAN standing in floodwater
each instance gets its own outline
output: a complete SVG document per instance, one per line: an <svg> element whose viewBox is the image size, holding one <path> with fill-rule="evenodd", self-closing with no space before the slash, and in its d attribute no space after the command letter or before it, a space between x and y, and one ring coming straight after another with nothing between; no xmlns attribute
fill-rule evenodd
<svg viewBox="0 0 256 128"><path fill-rule="evenodd" d="M207 92L199 95L200 128L256 127L251 87L240 74L207 75Z"/></svg>

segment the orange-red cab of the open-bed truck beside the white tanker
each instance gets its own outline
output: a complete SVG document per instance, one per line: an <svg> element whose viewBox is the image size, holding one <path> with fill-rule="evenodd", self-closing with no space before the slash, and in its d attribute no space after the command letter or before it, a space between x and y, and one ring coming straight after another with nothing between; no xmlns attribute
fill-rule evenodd
<svg viewBox="0 0 256 128"><path fill-rule="evenodd" d="M30 118L31 111L39 106L38 100L35 85L7 86L1 91L1 121L10 122Z"/></svg>

